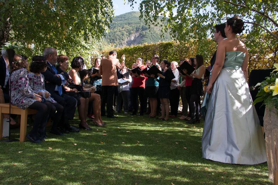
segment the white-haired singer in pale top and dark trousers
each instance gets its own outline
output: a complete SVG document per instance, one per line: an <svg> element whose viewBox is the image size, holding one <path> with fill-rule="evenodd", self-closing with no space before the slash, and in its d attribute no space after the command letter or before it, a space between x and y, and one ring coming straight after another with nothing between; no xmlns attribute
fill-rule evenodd
<svg viewBox="0 0 278 185"><path fill-rule="evenodd" d="M178 67L178 62L171 62L171 69L175 75L175 78L172 79L171 85L170 85L170 96L169 96L169 101L170 101L170 106L171 106L171 113L170 117L177 117L178 115L178 108L179 108L179 103L180 103L180 91L178 90L178 85L179 85L179 71L177 69Z"/></svg>

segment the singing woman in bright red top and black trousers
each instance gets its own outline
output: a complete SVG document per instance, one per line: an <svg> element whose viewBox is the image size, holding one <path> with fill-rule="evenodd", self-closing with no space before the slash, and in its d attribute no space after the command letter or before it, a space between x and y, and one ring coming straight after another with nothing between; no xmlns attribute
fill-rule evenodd
<svg viewBox="0 0 278 185"><path fill-rule="evenodd" d="M140 67L141 70L145 69L146 66L142 64L142 58L136 59L136 64ZM140 101L140 112L137 114L138 116L144 115L145 102L144 99L144 89L145 89L145 80L146 77L144 75L138 75L137 73L132 73L133 83L132 83L132 105L133 112L130 115L136 115L138 107L136 106L137 98L139 96Z"/></svg>

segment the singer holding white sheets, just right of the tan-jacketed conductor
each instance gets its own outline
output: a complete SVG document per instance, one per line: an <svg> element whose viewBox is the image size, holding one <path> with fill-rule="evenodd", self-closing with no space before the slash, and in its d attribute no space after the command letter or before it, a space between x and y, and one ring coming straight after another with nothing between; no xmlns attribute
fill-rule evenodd
<svg viewBox="0 0 278 185"><path fill-rule="evenodd" d="M122 69L122 74L126 73L127 69L126 67L124 67ZM124 113L127 114L129 106L128 106L128 102L129 102L129 84L131 83L131 76L129 75L129 79L123 78L124 80L127 80L127 82L124 83L119 83L118 86L118 97L117 97L117 107L116 107L116 111L117 112L121 112L121 102L123 101L124 104Z"/></svg>

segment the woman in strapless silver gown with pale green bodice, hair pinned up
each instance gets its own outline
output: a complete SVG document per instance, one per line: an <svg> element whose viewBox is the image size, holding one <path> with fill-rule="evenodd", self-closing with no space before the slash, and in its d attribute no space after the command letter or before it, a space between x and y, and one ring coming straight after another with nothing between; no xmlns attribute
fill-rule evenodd
<svg viewBox="0 0 278 185"><path fill-rule="evenodd" d="M220 41L207 93L202 137L203 158L231 164L266 162L266 148L248 84L248 51L236 34L244 23L227 20L227 40ZM202 105L203 107L204 105Z"/></svg>

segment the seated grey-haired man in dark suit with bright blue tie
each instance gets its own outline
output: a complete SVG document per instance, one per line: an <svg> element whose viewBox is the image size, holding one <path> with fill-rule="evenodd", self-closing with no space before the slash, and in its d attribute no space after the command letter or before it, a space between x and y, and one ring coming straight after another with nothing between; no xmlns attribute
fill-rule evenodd
<svg viewBox="0 0 278 185"><path fill-rule="evenodd" d="M55 64L57 63L57 51L55 48L47 47L43 51L43 56L47 59L47 70L42 74L45 77L45 89L50 92L60 105L64 107L63 115L60 120L59 129L62 132L79 132L79 129L69 125L69 119L74 118L77 100L66 94L63 84L69 79L69 75L65 71L57 71Z"/></svg>

